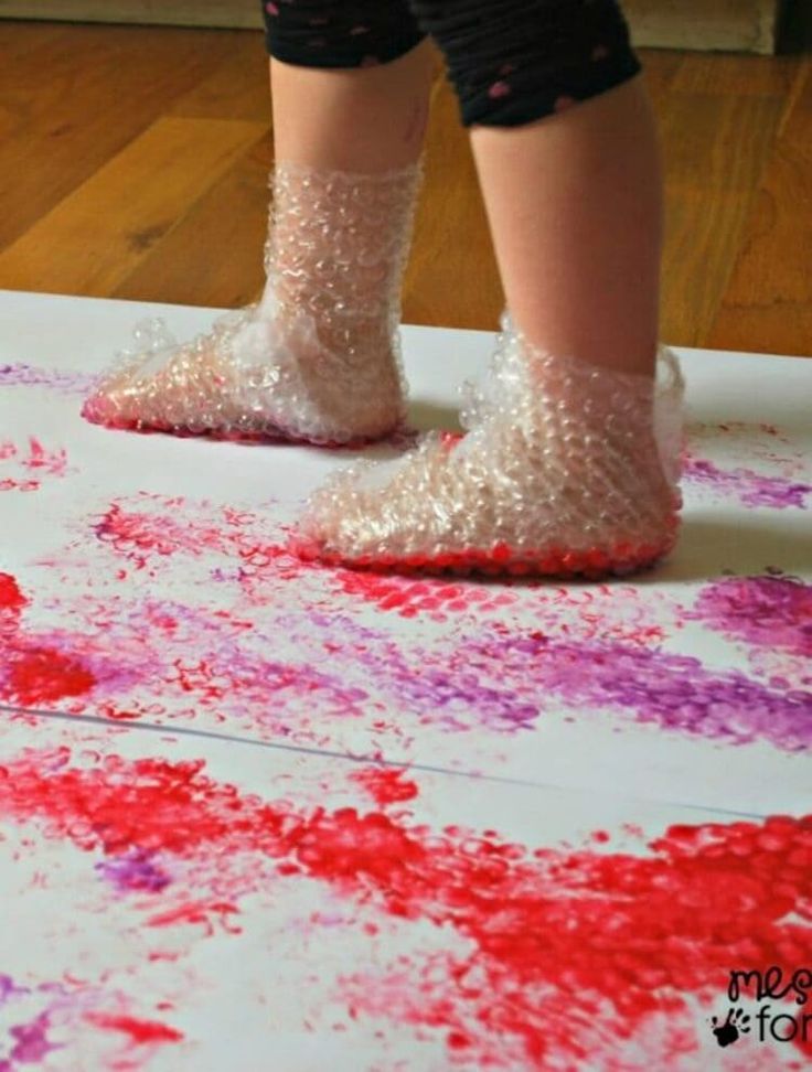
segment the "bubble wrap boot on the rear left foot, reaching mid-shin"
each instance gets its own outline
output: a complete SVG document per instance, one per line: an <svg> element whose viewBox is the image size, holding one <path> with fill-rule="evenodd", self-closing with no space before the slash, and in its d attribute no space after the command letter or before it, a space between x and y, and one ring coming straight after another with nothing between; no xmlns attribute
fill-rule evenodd
<svg viewBox="0 0 812 1072"><path fill-rule="evenodd" d="M394 431L405 412L398 323L419 165L383 175L278 164L259 303L178 344L161 321L106 373L83 415L179 435L322 444Z"/></svg>

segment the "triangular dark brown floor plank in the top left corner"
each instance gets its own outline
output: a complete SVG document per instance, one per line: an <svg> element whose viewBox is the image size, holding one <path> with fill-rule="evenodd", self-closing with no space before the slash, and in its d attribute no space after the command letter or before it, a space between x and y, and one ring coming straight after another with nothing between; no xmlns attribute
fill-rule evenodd
<svg viewBox="0 0 812 1072"><path fill-rule="evenodd" d="M232 47L206 31L43 23L25 63L0 64L0 246L137 137ZM8 41L11 24L2 30ZM34 37L28 26L22 36ZM3 56L6 61L6 56Z"/></svg>

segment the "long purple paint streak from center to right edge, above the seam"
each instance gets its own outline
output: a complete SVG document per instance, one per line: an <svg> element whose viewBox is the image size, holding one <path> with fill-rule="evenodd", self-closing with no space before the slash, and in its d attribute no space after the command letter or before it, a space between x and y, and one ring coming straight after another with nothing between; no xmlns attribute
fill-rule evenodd
<svg viewBox="0 0 812 1072"><path fill-rule="evenodd" d="M812 694L771 690L738 671L709 671L699 660L638 644L557 642L541 632L455 633L442 651L404 650L343 615L308 615L302 644L330 636L333 657L361 669L371 694L402 714L387 732L417 726L515 733L546 711L618 711L637 722L730 744L765 740L784 751L812 746ZM340 640L339 640L340 637Z"/></svg>

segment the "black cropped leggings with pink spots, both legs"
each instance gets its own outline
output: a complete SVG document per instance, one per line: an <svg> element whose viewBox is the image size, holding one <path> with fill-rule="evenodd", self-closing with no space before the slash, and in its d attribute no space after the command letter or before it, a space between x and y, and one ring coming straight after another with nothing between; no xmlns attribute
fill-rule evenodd
<svg viewBox="0 0 812 1072"><path fill-rule="evenodd" d="M533 122L640 72L616 0L266 0L270 55L364 67L426 35L444 53L466 126Z"/></svg>

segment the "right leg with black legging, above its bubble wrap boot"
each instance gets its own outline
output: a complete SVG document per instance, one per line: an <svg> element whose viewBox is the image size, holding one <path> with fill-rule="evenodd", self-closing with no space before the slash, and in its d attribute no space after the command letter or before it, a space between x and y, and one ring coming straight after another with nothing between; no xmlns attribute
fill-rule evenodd
<svg viewBox="0 0 812 1072"><path fill-rule="evenodd" d="M662 180L622 14L615 0L490 7L413 0L471 128L507 308L537 346L650 371Z"/></svg>

